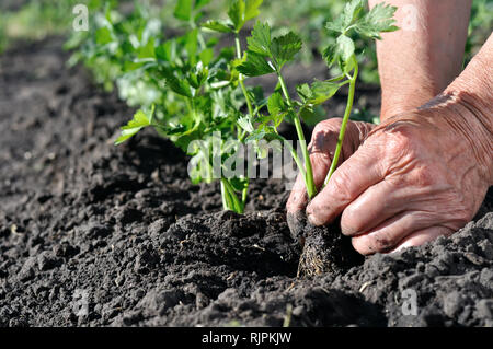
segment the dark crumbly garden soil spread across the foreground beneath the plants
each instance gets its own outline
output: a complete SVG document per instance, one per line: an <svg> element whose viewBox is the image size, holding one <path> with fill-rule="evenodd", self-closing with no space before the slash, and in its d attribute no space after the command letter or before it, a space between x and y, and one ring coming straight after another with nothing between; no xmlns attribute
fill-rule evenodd
<svg viewBox="0 0 493 349"><path fill-rule="evenodd" d="M283 183L220 212L151 130L112 144L133 110L60 46L0 57L0 326L493 326L491 197L450 239L297 278Z"/></svg>

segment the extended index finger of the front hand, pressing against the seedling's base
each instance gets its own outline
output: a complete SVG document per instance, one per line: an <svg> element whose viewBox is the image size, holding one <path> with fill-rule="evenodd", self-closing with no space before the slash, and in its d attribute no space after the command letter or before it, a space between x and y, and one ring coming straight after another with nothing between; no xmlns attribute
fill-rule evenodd
<svg viewBox="0 0 493 349"><path fill-rule="evenodd" d="M329 184L308 205L308 219L313 225L332 222L368 187L383 179L378 151L365 143L334 172Z"/></svg>

